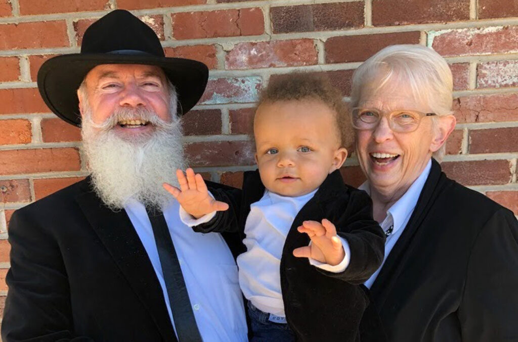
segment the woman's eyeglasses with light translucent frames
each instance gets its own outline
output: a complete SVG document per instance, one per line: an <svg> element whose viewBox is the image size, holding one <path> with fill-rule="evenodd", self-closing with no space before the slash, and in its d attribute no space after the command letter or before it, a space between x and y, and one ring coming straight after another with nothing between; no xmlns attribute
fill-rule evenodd
<svg viewBox="0 0 518 342"><path fill-rule="evenodd" d="M395 110L387 114L389 127L394 132L413 132L418 129L421 119L425 116L434 116L435 113L422 113L415 110ZM352 110L353 127L360 130L375 129L383 114L377 109L355 107Z"/></svg>

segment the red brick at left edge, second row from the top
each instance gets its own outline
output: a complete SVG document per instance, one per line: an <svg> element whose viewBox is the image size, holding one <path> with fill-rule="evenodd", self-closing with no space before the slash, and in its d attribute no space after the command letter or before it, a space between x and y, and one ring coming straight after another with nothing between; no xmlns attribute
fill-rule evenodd
<svg viewBox="0 0 518 342"><path fill-rule="evenodd" d="M69 42L64 20L0 25L0 50L66 46Z"/></svg>

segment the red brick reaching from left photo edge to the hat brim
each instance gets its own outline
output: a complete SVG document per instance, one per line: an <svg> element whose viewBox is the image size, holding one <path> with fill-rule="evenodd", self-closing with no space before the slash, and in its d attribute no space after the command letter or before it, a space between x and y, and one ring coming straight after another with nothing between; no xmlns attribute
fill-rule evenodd
<svg viewBox="0 0 518 342"><path fill-rule="evenodd" d="M36 88L0 89L0 103L0 114L50 112Z"/></svg>

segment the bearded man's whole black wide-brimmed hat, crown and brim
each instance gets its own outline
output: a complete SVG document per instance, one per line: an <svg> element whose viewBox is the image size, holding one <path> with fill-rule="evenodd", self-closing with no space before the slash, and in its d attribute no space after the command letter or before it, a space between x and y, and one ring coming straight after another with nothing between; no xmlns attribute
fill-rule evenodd
<svg viewBox="0 0 518 342"><path fill-rule="evenodd" d="M114 10L84 32L81 53L50 58L38 71L38 88L47 106L64 121L81 126L77 89L100 64L146 64L161 67L178 93L178 115L202 97L209 71L201 62L165 57L154 31L125 10Z"/></svg>

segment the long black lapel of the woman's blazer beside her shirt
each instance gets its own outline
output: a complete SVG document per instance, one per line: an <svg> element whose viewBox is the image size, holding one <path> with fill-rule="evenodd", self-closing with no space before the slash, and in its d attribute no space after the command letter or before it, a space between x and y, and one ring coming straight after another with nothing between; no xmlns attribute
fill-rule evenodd
<svg viewBox="0 0 518 342"><path fill-rule="evenodd" d="M423 233L420 227L435 203L438 195L443 191L446 180L445 175L441 172L439 163L432 159L432 166L428 179L421 191L418 202L415 205L414 212L408 221L405 231L401 234L398 241L392 248L387 257L378 277L372 284L370 293L375 298L378 308L383 304L390 293L391 289L399 277L399 274L405 268L405 263L412 255L412 251L419 248L418 244L412 243L416 237Z"/></svg>

